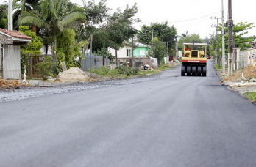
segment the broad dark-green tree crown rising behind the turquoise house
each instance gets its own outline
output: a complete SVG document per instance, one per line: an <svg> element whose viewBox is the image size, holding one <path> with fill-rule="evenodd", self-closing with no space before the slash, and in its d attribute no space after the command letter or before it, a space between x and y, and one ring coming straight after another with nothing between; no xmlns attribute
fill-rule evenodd
<svg viewBox="0 0 256 167"><path fill-rule="evenodd" d="M169 53L176 53L177 29L174 26L168 26L168 21L165 23L152 23L150 26L143 25L138 33L138 41L149 44L153 37L157 37L163 42L168 42Z"/></svg>

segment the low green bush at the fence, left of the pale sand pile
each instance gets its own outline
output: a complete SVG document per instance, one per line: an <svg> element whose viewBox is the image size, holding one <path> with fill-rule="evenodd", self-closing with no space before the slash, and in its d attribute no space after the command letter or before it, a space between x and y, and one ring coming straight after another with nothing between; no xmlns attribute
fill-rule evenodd
<svg viewBox="0 0 256 167"><path fill-rule="evenodd" d="M47 79L48 76L54 76L51 73L51 69L54 67L54 62L52 62L51 56L44 56L43 62L35 64L35 69L38 73L43 73L43 79Z"/></svg>

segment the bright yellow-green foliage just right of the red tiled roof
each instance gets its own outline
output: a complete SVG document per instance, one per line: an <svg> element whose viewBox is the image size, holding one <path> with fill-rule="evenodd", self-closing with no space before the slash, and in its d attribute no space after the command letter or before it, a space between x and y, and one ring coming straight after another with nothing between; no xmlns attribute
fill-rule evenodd
<svg viewBox="0 0 256 167"><path fill-rule="evenodd" d="M36 36L35 32L29 30L28 26L20 26L19 29L22 33L26 34L29 37L32 37L32 40L29 43L29 45L21 46L21 53L30 53L31 55L40 54L40 48L42 48L43 46L42 38Z"/></svg>

